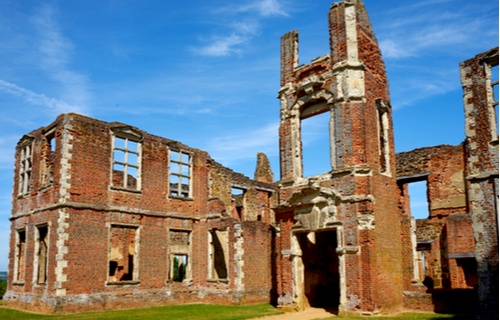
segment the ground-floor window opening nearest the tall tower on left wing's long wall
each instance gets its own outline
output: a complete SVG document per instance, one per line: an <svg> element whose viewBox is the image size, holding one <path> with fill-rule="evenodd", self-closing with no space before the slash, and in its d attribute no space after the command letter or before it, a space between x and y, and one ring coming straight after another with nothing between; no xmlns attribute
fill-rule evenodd
<svg viewBox="0 0 500 320"><path fill-rule="evenodd" d="M226 229L209 231L210 263L209 278L213 280L227 279L228 270L228 232Z"/></svg>

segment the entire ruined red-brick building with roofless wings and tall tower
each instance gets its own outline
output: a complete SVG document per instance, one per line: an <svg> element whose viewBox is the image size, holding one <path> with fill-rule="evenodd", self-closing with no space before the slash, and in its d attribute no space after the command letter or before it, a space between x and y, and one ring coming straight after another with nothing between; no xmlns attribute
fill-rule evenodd
<svg viewBox="0 0 500 320"><path fill-rule="evenodd" d="M334 3L328 19L331 51L310 64L298 64L297 31L281 40L277 182L264 154L249 179L206 152L77 114L22 137L6 305L275 302L376 315L454 311L453 300L498 317L498 48L460 64L467 139L396 154L363 3ZM331 170L306 177L301 122L323 113ZM411 216L415 181L427 181L428 219Z"/></svg>

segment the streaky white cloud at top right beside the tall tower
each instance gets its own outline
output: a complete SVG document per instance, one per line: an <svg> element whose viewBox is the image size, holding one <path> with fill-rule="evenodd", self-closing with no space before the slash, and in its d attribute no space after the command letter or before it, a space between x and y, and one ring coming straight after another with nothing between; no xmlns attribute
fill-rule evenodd
<svg viewBox="0 0 500 320"><path fill-rule="evenodd" d="M445 2L449 0L422 1L397 8L397 13L384 12L389 22L378 33L384 57L432 56L437 51L453 54L452 48L460 45L483 49L484 44L490 45L491 34L498 35L498 15L483 7L439 5ZM415 11L423 6L428 6L425 12Z"/></svg>

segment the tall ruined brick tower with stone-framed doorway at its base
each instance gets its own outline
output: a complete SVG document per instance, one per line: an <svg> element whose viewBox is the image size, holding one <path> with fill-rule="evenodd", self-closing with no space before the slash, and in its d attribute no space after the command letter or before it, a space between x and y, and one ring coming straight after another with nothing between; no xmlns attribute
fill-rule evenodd
<svg viewBox="0 0 500 320"><path fill-rule="evenodd" d="M401 227L389 86L359 0L333 3L330 53L298 65L281 39L280 306L376 314L402 305ZM302 120L329 113L331 171L305 177Z"/></svg>

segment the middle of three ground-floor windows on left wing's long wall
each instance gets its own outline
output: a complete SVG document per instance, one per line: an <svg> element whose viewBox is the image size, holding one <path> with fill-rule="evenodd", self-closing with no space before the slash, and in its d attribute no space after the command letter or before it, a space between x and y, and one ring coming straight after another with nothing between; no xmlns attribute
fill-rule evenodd
<svg viewBox="0 0 500 320"><path fill-rule="evenodd" d="M190 231L169 231L169 271L170 282L183 282L191 278L190 268Z"/></svg>

